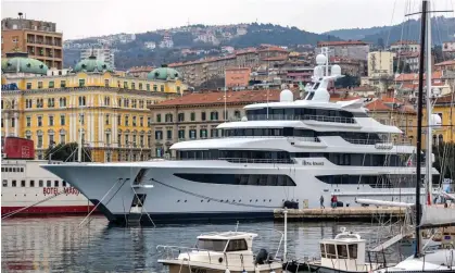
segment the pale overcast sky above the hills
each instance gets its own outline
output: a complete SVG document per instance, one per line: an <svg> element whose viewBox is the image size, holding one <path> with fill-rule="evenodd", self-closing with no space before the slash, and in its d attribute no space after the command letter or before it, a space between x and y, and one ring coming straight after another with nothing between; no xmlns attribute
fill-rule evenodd
<svg viewBox="0 0 455 273"><path fill-rule="evenodd" d="M56 23L64 39L189 24L273 23L313 33L399 24L420 0L2 0L1 16ZM453 10L455 0L433 0ZM454 16L454 12L445 13Z"/></svg>

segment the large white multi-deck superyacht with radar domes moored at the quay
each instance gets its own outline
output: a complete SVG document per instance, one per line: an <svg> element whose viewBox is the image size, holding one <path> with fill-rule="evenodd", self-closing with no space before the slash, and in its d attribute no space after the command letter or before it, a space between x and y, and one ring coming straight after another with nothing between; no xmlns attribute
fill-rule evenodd
<svg viewBox="0 0 455 273"><path fill-rule="evenodd" d="M245 107L239 122L220 124L222 138L172 146L175 160L43 165L71 183L112 222L271 219L285 202L318 208L337 195L414 201L415 147L367 115L364 100L330 102L327 88L342 77L327 57L316 58L304 99L290 90L279 102ZM414 178L413 178L414 176Z"/></svg>

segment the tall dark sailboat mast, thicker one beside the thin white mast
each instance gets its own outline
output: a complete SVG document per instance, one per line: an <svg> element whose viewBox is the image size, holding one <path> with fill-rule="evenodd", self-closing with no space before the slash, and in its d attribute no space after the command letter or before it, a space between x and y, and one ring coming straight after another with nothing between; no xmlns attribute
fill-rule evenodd
<svg viewBox="0 0 455 273"><path fill-rule="evenodd" d="M420 27L420 49L425 49L426 40L426 27L427 27L427 0L422 1L421 5L421 27ZM420 51L421 51L420 50ZM418 103L417 103L417 183L416 183L416 250L414 256L419 257L421 250L420 241L420 216L421 216L421 207L420 207L420 185L421 185L421 119L422 119L422 107L424 107L424 62L425 54L424 52L419 55L419 92L418 92Z"/></svg>

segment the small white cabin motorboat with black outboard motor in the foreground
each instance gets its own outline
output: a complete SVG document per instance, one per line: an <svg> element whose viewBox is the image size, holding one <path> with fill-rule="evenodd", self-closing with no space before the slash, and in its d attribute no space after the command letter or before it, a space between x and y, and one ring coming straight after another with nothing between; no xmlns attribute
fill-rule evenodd
<svg viewBox="0 0 455 273"><path fill-rule="evenodd" d="M256 236L248 232L208 233L198 236L194 248L157 246L163 257L159 263L167 265L169 273L282 272L277 255L273 257L265 249L253 253Z"/></svg>

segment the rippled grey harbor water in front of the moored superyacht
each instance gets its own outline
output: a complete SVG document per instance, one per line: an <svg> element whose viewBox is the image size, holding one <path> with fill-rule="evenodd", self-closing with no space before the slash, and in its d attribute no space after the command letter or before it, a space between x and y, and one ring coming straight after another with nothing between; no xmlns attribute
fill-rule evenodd
<svg viewBox="0 0 455 273"><path fill-rule="evenodd" d="M110 226L103 216L92 216L79 227L83 216L13 218L2 221L3 272L166 272L156 261L159 245L192 247L201 233L235 231L236 223L161 225L153 227ZM372 239L378 225L361 223L288 224L289 257L317 257L318 241L336 236L341 227ZM384 227L382 227L384 228ZM280 222L239 223L239 231L254 232L255 252L275 253L283 231ZM274 231L275 229L275 231ZM408 248L395 247L388 259L406 256Z"/></svg>

